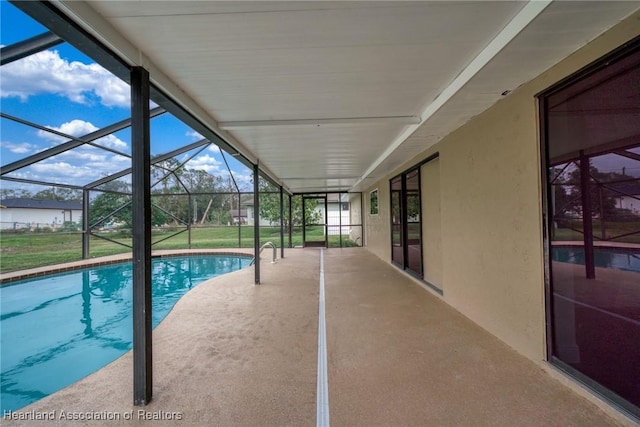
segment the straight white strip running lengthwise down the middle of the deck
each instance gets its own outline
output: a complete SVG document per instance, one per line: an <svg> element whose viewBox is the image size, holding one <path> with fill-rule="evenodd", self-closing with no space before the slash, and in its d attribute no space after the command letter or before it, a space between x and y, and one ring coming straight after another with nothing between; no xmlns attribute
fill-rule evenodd
<svg viewBox="0 0 640 427"><path fill-rule="evenodd" d="M329 427L329 378L327 376L327 331L324 308L324 250L320 248L320 295L318 303L318 387L316 426Z"/></svg>

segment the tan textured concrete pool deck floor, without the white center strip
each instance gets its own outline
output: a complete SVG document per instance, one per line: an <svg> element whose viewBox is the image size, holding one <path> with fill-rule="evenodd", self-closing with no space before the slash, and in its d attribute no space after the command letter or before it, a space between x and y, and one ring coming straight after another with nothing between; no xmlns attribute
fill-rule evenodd
<svg viewBox="0 0 640 427"><path fill-rule="evenodd" d="M634 425L368 250L323 253L334 426ZM289 249L275 264L263 256L261 273L260 286L250 267L176 304L153 333L149 405L132 404L129 352L14 416L51 416L44 425L52 426L315 425L320 249ZM2 425L43 421L5 417Z"/></svg>

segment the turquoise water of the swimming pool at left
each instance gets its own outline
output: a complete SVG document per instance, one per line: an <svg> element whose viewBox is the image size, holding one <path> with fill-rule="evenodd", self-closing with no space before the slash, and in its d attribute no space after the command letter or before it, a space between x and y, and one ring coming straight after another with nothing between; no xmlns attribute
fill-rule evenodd
<svg viewBox="0 0 640 427"><path fill-rule="evenodd" d="M153 259L153 326L190 289L250 262L220 255ZM130 262L0 287L0 413L60 390L131 349L131 299Z"/></svg>

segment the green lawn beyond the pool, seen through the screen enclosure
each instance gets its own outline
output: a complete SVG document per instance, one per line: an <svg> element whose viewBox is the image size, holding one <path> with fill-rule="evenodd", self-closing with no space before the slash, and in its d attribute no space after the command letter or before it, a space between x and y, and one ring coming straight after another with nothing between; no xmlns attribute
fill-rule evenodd
<svg viewBox="0 0 640 427"><path fill-rule="evenodd" d="M307 240L322 240L323 227L309 227ZM213 248L253 248L253 227L198 227L191 230L191 244L189 233L183 229L154 230L152 233L152 249L213 249ZM130 236L121 232L102 232L104 237L131 245ZM163 240L164 239L164 240ZM268 241L280 247L280 228L261 227L260 244ZM156 243L157 242L157 243ZM240 243L239 243L240 242ZM289 244L289 236L285 233L285 247ZM52 233L0 233L0 273L24 270L45 265L60 264L82 259L82 233L52 232ZM292 245L302 245L302 229L293 230ZM342 236L343 246L357 246L349 240L348 235ZM329 246L339 247L340 236L329 236ZM131 249L99 237L92 236L89 243L90 257L102 257L130 252Z"/></svg>

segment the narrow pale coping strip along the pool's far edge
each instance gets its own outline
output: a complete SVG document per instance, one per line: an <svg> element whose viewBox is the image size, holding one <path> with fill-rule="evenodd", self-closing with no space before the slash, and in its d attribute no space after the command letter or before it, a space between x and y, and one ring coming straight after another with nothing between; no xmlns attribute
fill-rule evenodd
<svg viewBox="0 0 640 427"><path fill-rule="evenodd" d="M184 255L232 255L252 257L251 249L180 249L180 250L157 250L151 252L152 258L176 257ZM71 261L62 264L46 265L42 267L29 268L26 270L11 271L0 274L0 286L16 282L24 279L32 279L34 277L45 276L47 274L64 273L67 271L79 270L86 267L96 267L102 265L116 264L119 262L130 261L131 253L107 255L99 258L83 259L79 261Z"/></svg>

